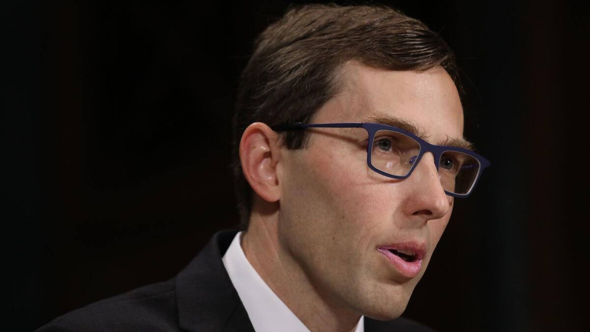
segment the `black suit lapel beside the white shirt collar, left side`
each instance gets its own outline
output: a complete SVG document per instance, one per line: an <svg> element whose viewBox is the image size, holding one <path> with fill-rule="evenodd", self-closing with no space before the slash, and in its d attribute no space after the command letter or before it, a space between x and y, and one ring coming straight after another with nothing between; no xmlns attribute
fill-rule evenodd
<svg viewBox="0 0 590 332"><path fill-rule="evenodd" d="M221 261L236 234L235 230L216 233L176 276L179 322L184 330L254 332Z"/></svg>

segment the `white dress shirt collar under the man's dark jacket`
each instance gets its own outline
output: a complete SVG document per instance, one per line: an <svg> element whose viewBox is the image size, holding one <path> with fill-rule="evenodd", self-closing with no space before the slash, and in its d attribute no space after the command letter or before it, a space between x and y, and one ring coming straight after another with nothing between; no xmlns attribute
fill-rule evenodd
<svg viewBox="0 0 590 332"><path fill-rule="evenodd" d="M256 332L309 332L286 304L268 287L258 272L248 262L241 243L242 232L231 242L222 258L231 283L250 317ZM364 332L364 316L356 324L355 332Z"/></svg>

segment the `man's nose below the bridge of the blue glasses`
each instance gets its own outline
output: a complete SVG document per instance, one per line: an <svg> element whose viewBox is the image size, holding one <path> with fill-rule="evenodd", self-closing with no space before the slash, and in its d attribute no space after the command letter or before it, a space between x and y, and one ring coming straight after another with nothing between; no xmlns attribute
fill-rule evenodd
<svg viewBox="0 0 590 332"><path fill-rule="evenodd" d="M440 219L451 210L453 198L445 194L431 152L425 153L406 179L405 213L421 216L425 221Z"/></svg>

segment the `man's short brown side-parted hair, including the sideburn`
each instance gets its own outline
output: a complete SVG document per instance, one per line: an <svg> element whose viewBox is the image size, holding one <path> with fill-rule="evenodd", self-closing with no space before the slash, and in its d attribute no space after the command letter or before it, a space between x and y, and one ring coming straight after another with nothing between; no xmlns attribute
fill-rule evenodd
<svg viewBox="0 0 590 332"><path fill-rule="evenodd" d="M245 128L307 122L339 89L337 69L349 60L387 70L442 66L458 84L455 57L435 32L385 6L304 5L266 28L241 76L234 115L233 171L241 227L248 228L252 189L242 174L239 145ZM281 134L302 148L304 131Z"/></svg>

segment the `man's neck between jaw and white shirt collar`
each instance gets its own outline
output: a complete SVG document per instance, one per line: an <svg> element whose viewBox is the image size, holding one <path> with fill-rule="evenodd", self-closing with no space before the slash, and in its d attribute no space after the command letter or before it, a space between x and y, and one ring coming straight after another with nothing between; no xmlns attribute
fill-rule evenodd
<svg viewBox="0 0 590 332"><path fill-rule="evenodd" d="M350 311L314 287L301 265L278 237L278 210L253 211L242 250L258 275L310 331L353 331L360 314Z"/></svg>

